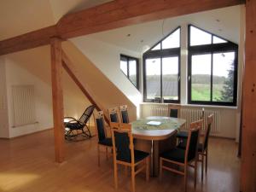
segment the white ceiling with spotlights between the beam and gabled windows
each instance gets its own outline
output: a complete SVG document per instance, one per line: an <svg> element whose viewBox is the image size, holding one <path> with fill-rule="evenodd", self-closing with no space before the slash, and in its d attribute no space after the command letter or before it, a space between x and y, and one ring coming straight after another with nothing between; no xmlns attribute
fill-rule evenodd
<svg viewBox="0 0 256 192"><path fill-rule="evenodd" d="M241 6L243 5L125 26L86 37L143 53L145 49L160 41L177 26L193 24L238 44ZM131 36L128 37L127 34L131 34Z"/></svg>

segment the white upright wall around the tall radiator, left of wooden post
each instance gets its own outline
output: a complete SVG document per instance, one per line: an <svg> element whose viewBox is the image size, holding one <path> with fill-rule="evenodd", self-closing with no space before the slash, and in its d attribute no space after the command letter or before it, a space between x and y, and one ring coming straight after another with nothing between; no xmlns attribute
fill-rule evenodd
<svg viewBox="0 0 256 192"><path fill-rule="evenodd" d="M42 131L53 127L51 87L41 79L38 79L25 68L20 67L19 63L6 58L6 83L9 108L9 137L17 137L35 131ZM38 123L32 125L14 125L12 85L33 84L35 89L35 113Z"/></svg>

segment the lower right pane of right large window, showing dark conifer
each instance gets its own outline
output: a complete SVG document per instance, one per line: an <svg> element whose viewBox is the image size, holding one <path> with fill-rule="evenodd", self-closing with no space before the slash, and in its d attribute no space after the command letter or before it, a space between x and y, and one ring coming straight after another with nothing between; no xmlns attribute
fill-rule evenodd
<svg viewBox="0 0 256 192"><path fill-rule="evenodd" d="M213 54L212 101L233 102L235 52Z"/></svg>

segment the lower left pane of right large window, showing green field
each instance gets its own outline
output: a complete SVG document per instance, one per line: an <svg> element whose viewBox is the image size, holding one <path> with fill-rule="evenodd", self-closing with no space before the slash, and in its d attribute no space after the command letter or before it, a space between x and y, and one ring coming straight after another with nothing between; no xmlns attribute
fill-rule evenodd
<svg viewBox="0 0 256 192"><path fill-rule="evenodd" d="M211 54L192 55L191 100L211 101Z"/></svg>

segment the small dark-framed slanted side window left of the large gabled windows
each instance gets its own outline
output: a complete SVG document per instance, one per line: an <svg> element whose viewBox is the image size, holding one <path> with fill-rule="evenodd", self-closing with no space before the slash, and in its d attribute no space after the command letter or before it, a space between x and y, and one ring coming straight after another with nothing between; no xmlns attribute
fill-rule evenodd
<svg viewBox="0 0 256 192"><path fill-rule="evenodd" d="M120 55L120 69L131 83L139 89L138 59L127 55Z"/></svg>

